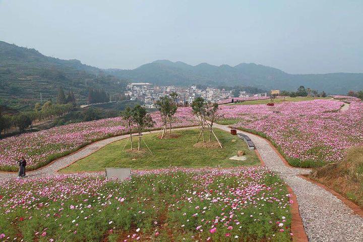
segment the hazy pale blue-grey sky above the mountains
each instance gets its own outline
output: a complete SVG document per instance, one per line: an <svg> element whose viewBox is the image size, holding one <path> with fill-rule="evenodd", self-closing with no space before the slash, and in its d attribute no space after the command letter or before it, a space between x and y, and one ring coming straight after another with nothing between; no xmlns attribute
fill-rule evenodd
<svg viewBox="0 0 363 242"><path fill-rule="evenodd" d="M100 68L170 59L363 73L363 1L0 0L0 40Z"/></svg>

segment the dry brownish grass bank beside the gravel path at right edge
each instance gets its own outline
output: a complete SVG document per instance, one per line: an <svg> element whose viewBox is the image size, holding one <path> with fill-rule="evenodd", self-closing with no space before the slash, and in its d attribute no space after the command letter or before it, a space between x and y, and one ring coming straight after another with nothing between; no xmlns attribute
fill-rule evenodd
<svg viewBox="0 0 363 242"><path fill-rule="evenodd" d="M311 178L363 207L363 146L349 149L342 162L318 168Z"/></svg>

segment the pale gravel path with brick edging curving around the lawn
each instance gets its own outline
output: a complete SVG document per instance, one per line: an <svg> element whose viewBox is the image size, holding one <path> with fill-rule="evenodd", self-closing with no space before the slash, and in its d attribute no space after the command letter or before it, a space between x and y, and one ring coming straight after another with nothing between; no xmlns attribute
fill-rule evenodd
<svg viewBox="0 0 363 242"><path fill-rule="evenodd" d="M214 124L214 127L227 132L230 131L230 128L225 125ZM188 127L175 130L195 128ZM159 131L144 132L144 134L157 132ZM363 218L354 214L348 206L325 189L298 176L299 174L310 173L310 169L286 166L265 139L246 132L241 133L251 138L265 165L279 173L295 193L299 213L309 241L363 241ZM71 155L57 159L44 168L28 172L27 175L44 176L54 174L58 169L90 155L114 141L127 137L129 136L122 135L97 141ZM0 172L0 179L8 177L16 177L16 173Z"/></svg>

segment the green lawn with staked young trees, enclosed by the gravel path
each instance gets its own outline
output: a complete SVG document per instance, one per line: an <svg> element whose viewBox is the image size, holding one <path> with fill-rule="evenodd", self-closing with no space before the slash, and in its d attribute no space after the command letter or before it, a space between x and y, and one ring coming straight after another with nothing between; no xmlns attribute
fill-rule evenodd
<svg viewBox="0 0 363 242"><path fill-rule="evenodd" d="M260 161L254 151L248 150L244 141L225 131L215 129L223 149L194 148L199 130L174 131L180 137L176 139L159 139L156 134L145 135L145 141L154 154L149 151L131 153L122 151L127 140L120 140L109 144L97 152L83 158L61 172L99 171L105 167L131 167L134 169L156 169L169 166L177 167L233 167L241 165L259 165ZM207 139L207 137L206 137ZM232 142L232 140L235 140ZM130 143L129 143L130 144ZM130 148L130 146L127 148ZM136 145L136 143L135 143ZM143 145L143 149L146 149ZM244 150L245 161L229 160Z"/></svg>

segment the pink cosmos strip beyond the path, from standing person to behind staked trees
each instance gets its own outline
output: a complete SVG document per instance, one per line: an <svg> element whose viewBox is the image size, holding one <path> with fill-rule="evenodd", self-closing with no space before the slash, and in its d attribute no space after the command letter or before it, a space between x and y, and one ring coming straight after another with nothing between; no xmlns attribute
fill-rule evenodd
<svg viewBox="0 0 363 242"><path fill-rule="evenodd" d="M153 112L151 116L155 122L153 129L161 128L159 113ZM178 108L174 119L173 127L197 124L190 108ZM16 171L21 156L27 160L28 170L36 169L96 140L127 132L125 121L114 117L6 138L0 140L0 170Z"/></svg>

